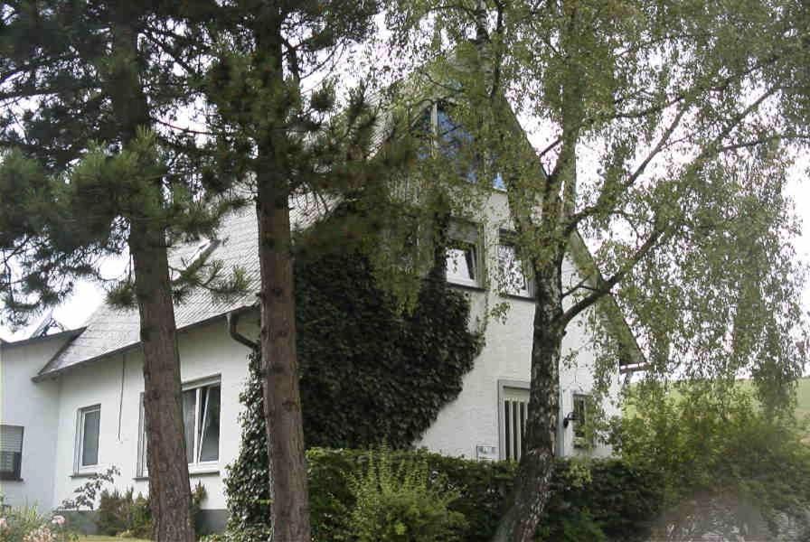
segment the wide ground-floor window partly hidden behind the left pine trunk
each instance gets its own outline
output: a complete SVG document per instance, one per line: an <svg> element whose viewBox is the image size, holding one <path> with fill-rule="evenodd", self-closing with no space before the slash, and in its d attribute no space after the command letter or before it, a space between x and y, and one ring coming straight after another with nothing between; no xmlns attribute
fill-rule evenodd
<svg viewBox="0 0 810 542"><path fill-rule="evenodd" d="M183 387L183 429L189 466L205 466L220 460L220 378L206 378ZM141 398L141 437L138 473L146 475L146 424Z"/></svg>

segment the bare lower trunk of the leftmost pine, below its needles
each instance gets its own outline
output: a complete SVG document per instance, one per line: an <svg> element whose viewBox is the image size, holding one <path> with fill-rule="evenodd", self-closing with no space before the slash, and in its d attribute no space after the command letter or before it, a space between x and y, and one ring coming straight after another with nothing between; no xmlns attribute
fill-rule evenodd
<svg viewBox="0 0 810 542"><path fill-rule="evenodd" d="M193 542L180 357L165 234L133 221L129 238L144 352L144 421L155 540Z"/></svg>

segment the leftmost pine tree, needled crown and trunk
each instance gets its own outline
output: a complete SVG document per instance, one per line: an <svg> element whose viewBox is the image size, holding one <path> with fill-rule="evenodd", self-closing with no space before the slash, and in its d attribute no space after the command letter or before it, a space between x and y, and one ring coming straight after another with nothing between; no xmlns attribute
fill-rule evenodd
<svg viewBox="0 0 810 542"><path fill-rule="evenodd" d="M231 208L226 187L201 174L193 137L166 127L196 96L201 14L173 2L0 9L4 309L23 322L77 278L99 278L101 258L131 258L109 301L137 304L140 315L155 537L191 542L173 302L190 285L230 288L217 265L173 276L167 254Z"/></svg>

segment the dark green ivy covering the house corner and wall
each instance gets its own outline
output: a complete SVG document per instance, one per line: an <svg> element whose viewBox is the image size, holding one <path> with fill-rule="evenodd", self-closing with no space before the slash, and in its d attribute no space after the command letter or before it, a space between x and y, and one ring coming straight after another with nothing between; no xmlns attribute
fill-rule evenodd
<svg viewBox="0 0 810 542"><path fill-rule="evenodd" d="M443 258L402 313L360 253L298 258L298 361L307 447L407 448L461 391L483 344ZM240 453L225 479L234 540L268 539L268 450L260 360L240 394Z"/></svg>

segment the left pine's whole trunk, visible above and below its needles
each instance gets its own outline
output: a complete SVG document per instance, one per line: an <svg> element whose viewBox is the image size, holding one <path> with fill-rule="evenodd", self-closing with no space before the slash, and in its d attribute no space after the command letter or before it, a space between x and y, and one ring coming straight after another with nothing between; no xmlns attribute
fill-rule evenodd
<svg viewBox="0 0 810 542"><path fill-rule="evenodd" d="M143 6L122 0L110 5L113 14L113 68L107 86L120 126L121 143L150 126L149 106L140 78L137 22ZM162 197L161 180L145 193ZM161 209L163 201L156 201ZM177 351L172 284L169 276L164 218L146 210L128 216L129 250L144 353L144 421L149 471L149 503L155 540L193 542L191 488L184 437L180 356Z"/></svg>

